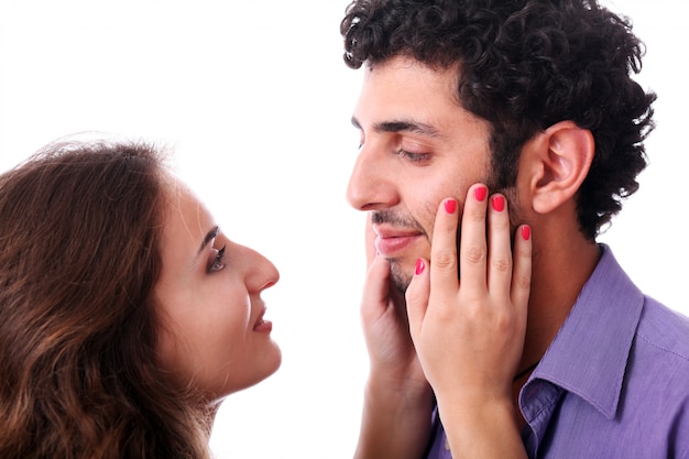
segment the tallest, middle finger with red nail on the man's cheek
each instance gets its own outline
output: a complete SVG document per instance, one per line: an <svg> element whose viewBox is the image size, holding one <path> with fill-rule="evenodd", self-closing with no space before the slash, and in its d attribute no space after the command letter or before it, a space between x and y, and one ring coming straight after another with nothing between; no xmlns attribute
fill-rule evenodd
<svg viewBox="0 0 689 459"><path fill-rule="evenodd" d="M488 245L485 241L485 212L488 187L473 185L467 193L462 215L459 248L459 273L464 289L482 294L486 289Z"/></svg>

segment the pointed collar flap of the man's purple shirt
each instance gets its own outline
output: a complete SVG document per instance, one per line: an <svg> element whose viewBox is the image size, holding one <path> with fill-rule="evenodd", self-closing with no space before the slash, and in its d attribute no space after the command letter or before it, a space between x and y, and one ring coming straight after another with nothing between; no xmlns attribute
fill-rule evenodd
<svg viewBox="0 0 689 459"><path fill-rule="evenodd" d="M549 381L608 418L617 411L622 382L644 296L610 248L602 256L529 381Z"/></svg>

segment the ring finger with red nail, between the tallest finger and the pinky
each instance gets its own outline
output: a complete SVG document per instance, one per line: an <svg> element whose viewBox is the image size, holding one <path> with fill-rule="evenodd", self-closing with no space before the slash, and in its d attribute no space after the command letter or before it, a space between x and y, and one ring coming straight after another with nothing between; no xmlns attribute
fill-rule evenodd
<svg viewBox="0 0 689 459"><path fill-rule="evenodd" d="M488 223L488 288L491 294L508 299L512 245L507 201L501 194L489 199Z"/></svg>

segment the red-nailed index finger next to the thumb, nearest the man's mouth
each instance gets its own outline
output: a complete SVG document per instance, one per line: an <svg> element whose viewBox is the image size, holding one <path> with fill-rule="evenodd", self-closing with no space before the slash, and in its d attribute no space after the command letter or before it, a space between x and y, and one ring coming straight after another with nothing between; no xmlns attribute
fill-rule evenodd
<svg viewBox="0 0 689 459"><path fill-rule="evenodd" d="M434 285L434 291L438 293L456 293L459 285L457 276L458 220L457 199L444 199L436 214L430 244L430 283Z"/></svg>

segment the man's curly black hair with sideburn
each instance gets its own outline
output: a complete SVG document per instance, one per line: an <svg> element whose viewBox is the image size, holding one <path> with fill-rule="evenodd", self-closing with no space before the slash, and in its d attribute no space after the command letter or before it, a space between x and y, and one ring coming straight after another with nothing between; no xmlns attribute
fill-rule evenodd
<svg viewBox="0 0 689 459"><path fill-rule="evenodd" d="M520 152L564 120L588 129L595 155L578 199L594 239L638 189L653 91L632 79L643 42L627 18L595 0L354 0L340 24L348 66L393 56L458 66L458 100L491 124L499 187L514 185Z"/></svg>

